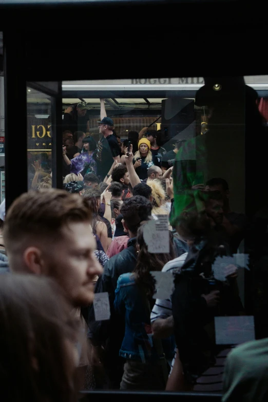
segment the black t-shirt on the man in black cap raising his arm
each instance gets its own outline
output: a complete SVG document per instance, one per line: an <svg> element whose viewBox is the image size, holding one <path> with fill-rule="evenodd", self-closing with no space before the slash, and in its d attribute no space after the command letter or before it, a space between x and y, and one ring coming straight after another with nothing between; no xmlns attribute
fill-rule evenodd
<svg viewBox="0 0 268 402"><path fill-rule="evenodd" d="M108 137L102 137L97 146L96 162L97 174L104 179L113 164L114 157L120 155L120 147L116 136L113 134Z"/></svg>

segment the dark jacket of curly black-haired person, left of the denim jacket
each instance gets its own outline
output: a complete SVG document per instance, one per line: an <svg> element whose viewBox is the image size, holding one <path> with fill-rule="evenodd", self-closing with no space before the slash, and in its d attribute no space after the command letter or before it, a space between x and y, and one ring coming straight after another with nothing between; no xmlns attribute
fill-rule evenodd
<svg viewBox="0 0 268 402"><path fill-rule="evenodd" d="M111 345L113 352L117 350L119 353L124 338L125 323L122 317L116 315L113 308L114 292L120 275L135 269L137 263L135 244L136 238L130 239L125 250L106 262L103 274L95 285L95 293L108 292L111 316L110 320L95 321L93 306L91 306L88 315L88 335L94 345L106 344L106 351Z"/></svg>

